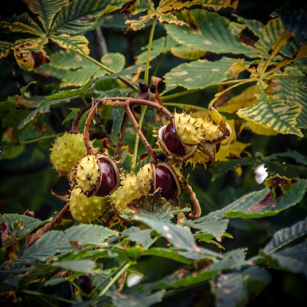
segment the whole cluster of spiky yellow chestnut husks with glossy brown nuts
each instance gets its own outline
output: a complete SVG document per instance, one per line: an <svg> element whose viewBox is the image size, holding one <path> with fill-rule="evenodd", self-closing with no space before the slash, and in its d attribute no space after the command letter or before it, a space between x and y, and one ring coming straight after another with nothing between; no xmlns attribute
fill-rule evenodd
<svg viewBox="0 0 307 307"><path fill-rule="evenodd" d="M149 99L147 84L141 81L138 87L140 92L137 103L141 102L140 98L142 102ZM130 106L127 104L129 100L125 103L127 111ZM163 107L159 110L161 108ZM84 110L88 109L89 107L85 106ZM215 154L221 142L231 135L230 126L214 108L209 108L209 118L194 118L185 111L174 114L165 111L170 123L159 128L157 135L157 145L165 159L159 159L159 154L149 145L147 148L152 154L151 161L140 167L138 172L128 173L120 171L119 162L108 153L96 152L92 148L93 142L89 141L89 126L95 110L90 110L83 134L72 129L74 132L66 132L62 137L56 138L50 155L51 163L58 174L66 176L71 181L68 204L73 218L79 223L102 222L109 218L111 210L121 214L129 208L129 203L133 208L135 200L146 200L144 196L157 191L172 205L179 205L178 198L182 189L187 189L190 195L193 194L190 193L187 180L182 180L184 163L195 166L215 161ZM132 120L131 111L127 113ZM80 112L76 118L79 117ZM141 136L142 131L136 126L136 120L132 122ZM147 142L144 135L142 141L144 144ZM156 195L158 194L155 193ZM193 197L190 199L193 202ZM200 205L195 201L194 203L194 208L198 206L195 216L199 216Z"/></svg>

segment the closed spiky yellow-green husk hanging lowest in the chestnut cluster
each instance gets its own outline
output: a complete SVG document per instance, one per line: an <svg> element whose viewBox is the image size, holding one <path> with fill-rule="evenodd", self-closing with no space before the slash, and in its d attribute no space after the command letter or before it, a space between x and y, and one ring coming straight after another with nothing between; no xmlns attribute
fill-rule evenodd
<svg viewBox="0 0 307 307"><path fill-rule="evenodd" d="M71 191L68 204L74 220L79 223L103 221L111 210L107 197L86 197L80 188Z"/></svg>

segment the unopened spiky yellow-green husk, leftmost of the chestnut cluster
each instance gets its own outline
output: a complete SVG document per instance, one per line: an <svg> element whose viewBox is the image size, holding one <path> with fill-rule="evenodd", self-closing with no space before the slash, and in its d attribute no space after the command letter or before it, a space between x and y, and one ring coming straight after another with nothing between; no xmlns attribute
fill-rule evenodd
<svg viewBox="0 0 307 307"><path fill-rule="evenodd" d="M59 176L70 176L74 163L86 153L82 133L65 132L52 144L50 161Z"/></svg>

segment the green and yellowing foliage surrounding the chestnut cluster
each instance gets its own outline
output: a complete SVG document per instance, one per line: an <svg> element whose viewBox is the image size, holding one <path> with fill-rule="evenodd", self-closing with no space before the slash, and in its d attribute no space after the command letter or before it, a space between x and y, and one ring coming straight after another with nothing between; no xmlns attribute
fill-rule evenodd
<svg viewBox="0 0 307 307"><path fill-rule="evenodd" d="M296 0L7 2L0 20L1 304L306 304L306 14ZM214 105L234 132L219 161L184 169L202 216L177 225L187 208L128 212L128 227L64 218L28 246L29 233L64 207L56 195L70 189L50 163L54 138L92 97L136 96L137 82L153 76L162 79L157 90L170 111L207 116ZM109 153L123 118L117 110L103 108L91 126L95 147L107 144ZM137 119L142 114L154 146L153 130L167 118L135 110ZM135 138L128 123L121 167L129 171L147 162ZM258 183L262 164L268 177ZM133 274L141 281L131 286Z"/></svg>

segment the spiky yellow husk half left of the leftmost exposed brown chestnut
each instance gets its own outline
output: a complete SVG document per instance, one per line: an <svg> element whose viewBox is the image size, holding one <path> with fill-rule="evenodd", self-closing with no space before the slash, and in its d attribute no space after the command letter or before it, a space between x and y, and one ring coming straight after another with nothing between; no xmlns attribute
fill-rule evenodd
<svg viewBox="0 0 307 307"><path fill-rule="evenodd" d="M101 166L95 154L86 154L74 165L72 182L81 189L87 197L92 196L101 183Z"/></svg>

